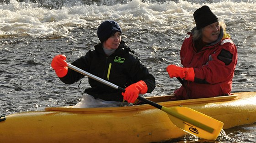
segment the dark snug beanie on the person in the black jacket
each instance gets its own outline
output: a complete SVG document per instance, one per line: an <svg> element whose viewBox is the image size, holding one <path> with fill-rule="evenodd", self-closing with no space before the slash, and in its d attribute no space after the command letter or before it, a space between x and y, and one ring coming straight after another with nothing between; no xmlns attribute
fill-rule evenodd
<svg viewBox="0 0 256 143"><path fill-rule="evenodd" d="M117 22L114 20L107 20L102 22L101 25L98 27L97 36L101 43L103 43L117 31L122 34L122 30L120 26L118 26Z"/></svg>

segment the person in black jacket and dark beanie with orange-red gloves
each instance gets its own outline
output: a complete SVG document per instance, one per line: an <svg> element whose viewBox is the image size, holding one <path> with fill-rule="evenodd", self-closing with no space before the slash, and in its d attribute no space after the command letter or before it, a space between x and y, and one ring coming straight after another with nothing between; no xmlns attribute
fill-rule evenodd
<svg viewBox="0 0 256 143"><path fill-rule="evenodd" d="M155 77L141 64L124 41L121 40L122 30L117 22L107 20L101 23L97 36L101 43L95 45L95 50L88 51L71 64L97 77L107 80L118 87L125 88L122 93L101 82L89 78L91 88L85 93L105 101L135 102L139 94L150 93L155 89ZM68 69L65 55L53 58L51 66L60 80L66 84L78 82L84 75Z"/></svg>

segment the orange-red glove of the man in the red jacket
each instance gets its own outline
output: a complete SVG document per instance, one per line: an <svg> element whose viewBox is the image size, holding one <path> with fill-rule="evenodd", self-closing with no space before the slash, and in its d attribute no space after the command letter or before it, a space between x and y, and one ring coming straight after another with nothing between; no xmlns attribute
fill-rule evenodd
<svg viewBox="0 0 256 143"><path fill-rule="evenodd" d="M187 81L194 82L195 72L193 67L180 67L176 65L169 65L166 68L169 76L172 77L181 77Z"/></svg>

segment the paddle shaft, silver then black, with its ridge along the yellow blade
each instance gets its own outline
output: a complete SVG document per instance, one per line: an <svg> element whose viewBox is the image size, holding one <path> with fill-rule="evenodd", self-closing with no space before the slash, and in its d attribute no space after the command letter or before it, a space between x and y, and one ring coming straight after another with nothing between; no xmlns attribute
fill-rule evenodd
<svg viewBox="0 0 256 143"><path fill-rule="evenodd" d="M104 79L101 79L100 77L96 77L96 76L94 76L93 74L91 74L91 73L89 73L89 72L85 72L84 70L82 70L82 69L80 69L80 68L78 68L78 67L76 67L76 66L73 66L73 65L71 65L71 64L68 63L68 67L69 67L70 69L72 69L72 70L74 70L74 71L76 71L76 72L79 72L79 73L81 73L81 74L83 74L83 75L85 75L85 76L87 76L87 77L90 77L90 78L92 78L92 79L94 79L94 80L96 80L96 81L98 81L98 82L101 82L101 83L103 83L103 84L106 84L106 85L108 85L108 86L114 88L114 89L117 89L117 90L120 90L120 91L122 91L122 92L125 92L125 89L123 89L122 87L118 87L117 85L115 85L115 84L113 84L113 83L111 83L111 82L108 82L108 81L106 81L106 80L104 80ZM212 133L213 130L214 130L213 128L211 128L211 127L209 127L209 126L204 125L204 124L202 124L202 123L200 123L200 122L197 122L196 120L193 120L193 119L191 119L191 118L189 118L189 117L186 117L186 116L184 116L184 115L182 115L182 114L180 114L180 113L178 113L178 112L171 112L170 110L168 110L168 108L163 107L163 106L161 106L161 105L159 105L159 104L157 104L157 103L155 103L155 102L152 102L152 101L150 101L150 100L148 100L148 99L146 99L146 98L144 98L144 97L139 96L137 99L139 99L139 100L141 100L141 101L143 101L143 102L146 102L146 103L148 103L149 105L154 106L154 107L156 107L156 108L158 108L158 109L160 109L160 110L162 110L162 111L164 111L164 112L166 112L166 113L168 113L168 114L170 114L170 115L172 115L172 116L174 116L174 117L177 117L177 118L179 118L179 119L181 119L181 120L183 120L183 121L185 121L185 122L192 123L192 124L194 124L195 126L197 126L197 127L199 127L199 128L202 128L202 129L205 130L205 131L208 131L209 133Z"/></svg>

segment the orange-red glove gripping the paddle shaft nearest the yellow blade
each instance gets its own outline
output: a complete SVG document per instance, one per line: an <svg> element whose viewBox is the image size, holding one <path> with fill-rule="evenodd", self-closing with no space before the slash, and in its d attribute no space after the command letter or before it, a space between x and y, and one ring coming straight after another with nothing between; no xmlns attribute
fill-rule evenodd
<svg viewBox="0 0 256 143"><path fill-rule="evenodd" d="M145 94L147 91L147 84L144 81L139 81L126 87L125 92L122 93L122 95L123 99L128 103L133 103L139 97L139 94Z"/></svg>

